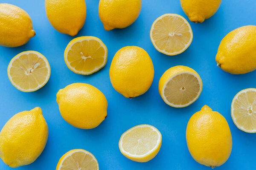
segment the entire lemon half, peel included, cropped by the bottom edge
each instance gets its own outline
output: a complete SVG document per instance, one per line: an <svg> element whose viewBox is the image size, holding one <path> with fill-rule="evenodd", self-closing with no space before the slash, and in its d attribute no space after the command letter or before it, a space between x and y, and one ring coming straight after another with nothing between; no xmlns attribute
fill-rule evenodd
<svg viewBox="0 0 256 170"><path fill-rule="evenodd" d="M74 149L61 157L56 170L99 170L99 164L90 152Z"/></svg>

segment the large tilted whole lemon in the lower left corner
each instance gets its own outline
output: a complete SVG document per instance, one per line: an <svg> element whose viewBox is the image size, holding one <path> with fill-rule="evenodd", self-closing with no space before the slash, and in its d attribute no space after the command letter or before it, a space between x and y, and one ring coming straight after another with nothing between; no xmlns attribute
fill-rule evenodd
<svg viewBox="0 0 256 170"><path fill-rule="evenodd" d="M9 167L31 164L44 150L47 138L41 108L17 113L0 132L0 157Z"/></svg>

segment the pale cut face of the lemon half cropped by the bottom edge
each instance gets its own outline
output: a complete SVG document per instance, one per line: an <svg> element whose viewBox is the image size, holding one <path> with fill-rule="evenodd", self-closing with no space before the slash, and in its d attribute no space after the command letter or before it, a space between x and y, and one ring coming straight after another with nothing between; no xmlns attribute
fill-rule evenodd
<svg viewBox="0 0 256 170"><path fill-rule="evenodd" d="M62 162L59 170L98 170L98 163L88 153L75 152Z"/></svg>

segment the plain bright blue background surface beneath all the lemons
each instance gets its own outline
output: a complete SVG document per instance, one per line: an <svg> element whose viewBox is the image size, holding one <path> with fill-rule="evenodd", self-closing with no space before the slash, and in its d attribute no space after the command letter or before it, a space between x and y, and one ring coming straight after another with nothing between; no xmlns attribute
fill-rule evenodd
<svg viewBox="0 0 256 170"><path fill-rule="evenodd" d="M239 130L230 116L233 97L245 88L256 87L256 71L232 75L216 66L215 55L222 38L235 28L256 25L255 0L224 0L220 8L204 23L192 23L193 41L189 48L177 56L159 53L152 45L149 31L154 20L166 13L184 14L179 0L143 0L140 16L134 24L124 29L105 31L99 20L99 0L86 0L87 18L79 36L99 37L108 48L108 62L100 71L83 76L70 71L64 62L64 49L74 37L57 32L47 20L44 0L1 0L23 8L32 18L36 36L21 47L0 47L0 128L20 111L39 106L49 126L46 147L38 159L17 170L55 170L59 158L71 149L85 149L96 156L101 170L209 170L198 164L186 146L186 125L193 113L209 105L220 112L230 125L233 149L230 158L218 170L255 169L256 134ZM111 60L120 48L137 45L144 48L154 64L154 81L143 95L127 99L117 93L109 79ZM24 93L10 83L7 66L22 51L35 50L47 57L51 66L49 82L40 90ZM201 76L203 91L198 100L186 108L172 108L163 102L158 93L158 81L168 68L189 66ZM91 130L82 130L62 119L56 102L60 88L75 83L89 83L108 99L108 117ZM147 163L131 161L118 147L119 138L129 128L150 124L162 133L160 152ZM0 170L11 170L0 161Z"/></svg>

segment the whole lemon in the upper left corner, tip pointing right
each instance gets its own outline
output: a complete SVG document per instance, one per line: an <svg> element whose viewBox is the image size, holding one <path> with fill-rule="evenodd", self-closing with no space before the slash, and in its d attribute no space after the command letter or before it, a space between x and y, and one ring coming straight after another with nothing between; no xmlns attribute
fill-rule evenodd
<svg viewBox="0 0 256 170"><path fill-rule="evenodd" d="M23 9L0 3L0 45L18 47L35 36L29 14Z"/></svg>

